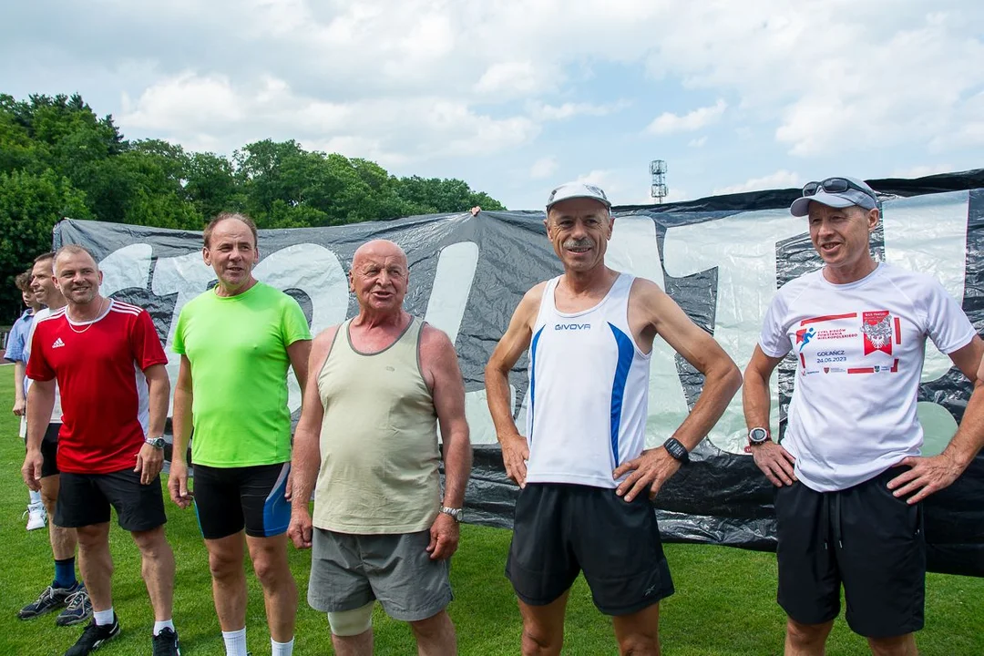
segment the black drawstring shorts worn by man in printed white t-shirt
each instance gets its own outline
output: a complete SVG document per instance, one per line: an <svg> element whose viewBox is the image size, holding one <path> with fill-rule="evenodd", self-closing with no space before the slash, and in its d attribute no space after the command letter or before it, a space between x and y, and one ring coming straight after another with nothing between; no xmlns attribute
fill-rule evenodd
<svg viewBox="0 0 984 656"><path fill-rule="evenodd" d="M892 468L839 492L800 482L775 490L779 606L805 625L840 613L866 637L893 637L923 626L926 542L922 509L896 499Z"/></svg>

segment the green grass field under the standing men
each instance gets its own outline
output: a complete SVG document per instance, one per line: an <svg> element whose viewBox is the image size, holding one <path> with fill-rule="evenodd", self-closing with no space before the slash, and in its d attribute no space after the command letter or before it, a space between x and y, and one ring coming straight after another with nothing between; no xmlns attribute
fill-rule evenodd
<svg viewBox="0 0 984 656"><path fill-rule="evenodd" d="M21 513L27 490L21 482L24 450L17 439L13 403L13 370L0 367L0 656L62 654L78 637L80 627L61 628L54 617L17 619L52 577L51 552L44 531L28 533ZM168 503L167 534L177 560L174 621L183 653L224 653L209 579L205 546L191 511ZM116 571L114 606L121 635L99 650L100 656L147 654L153 623L136 548L129 534L114 526L110 534ZM449 611L458 628L461 654L495 656L520 653L520 614L512 588L503 576L510 532L464 526L455 556L452 582L456 599ZM775 558L772 554L724 547L668 545L677 593L662 604L660 635L669 656L780 654L784 617L775 605ZM330 654L328 625L305 603L308 552L290 550L290 563L300 589L297 654ZM247 566L248 567L248 566ZM249 648L255 656L270 653L262 593L249 573L247 619ZM927 583L926 628L918 641L925 656L984 654L984 579L930 574ZM378 607L375 616L377 654L413 654L407 626L391 621ZM579 579L571 594L565 654L615 654L611 623L594 610ZM868 653L863 638L838 620L828 653Z"/></svg>

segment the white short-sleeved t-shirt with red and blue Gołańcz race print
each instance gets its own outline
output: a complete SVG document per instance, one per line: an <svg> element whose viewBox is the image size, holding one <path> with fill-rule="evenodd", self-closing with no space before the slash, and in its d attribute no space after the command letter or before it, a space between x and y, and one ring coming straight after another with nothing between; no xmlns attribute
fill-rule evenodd
<svg viewBox="0 0 984 656"><path fill-rule="evenodd" d="M774 358L796 354L782 446L797 478L817 492L843 490L918 455L926 337L950 354L974 334L936 278L904 268L880 264L848 284L820 269L783 285L759 345Z"/></svg>

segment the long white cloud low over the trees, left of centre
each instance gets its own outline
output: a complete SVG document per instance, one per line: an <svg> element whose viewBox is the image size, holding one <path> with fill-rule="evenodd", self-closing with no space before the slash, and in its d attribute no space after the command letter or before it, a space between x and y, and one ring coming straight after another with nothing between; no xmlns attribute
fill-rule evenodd
<svg viewBox="0 0 984 656"><path fill-rule="evenodd" d="M182 144L230 151L258 139L296 139L384 165L439 156L488 155L528 143L539 132L525 116L494 118L441 97L332 102L296 93L265 77L233 86L185 72L124 102L124 129L153 130ZM220 135L206 139L207 135Z"/></svg>

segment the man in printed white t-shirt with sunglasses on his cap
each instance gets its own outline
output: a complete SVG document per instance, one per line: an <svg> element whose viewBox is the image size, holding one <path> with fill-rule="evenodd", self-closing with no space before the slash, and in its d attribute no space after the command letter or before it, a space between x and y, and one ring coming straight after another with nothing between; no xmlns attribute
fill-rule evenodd
<svg viewBox="0 0 984 656"><path fill-rule="evenodd" d="M920 504L984 445L984 342L933 277L874 260L875 192L855 178L803 188L824 267L784 285L745 372L749 450L776 486L778 603L785 653L823 654L840 612L878 655L916 656L926 546ZM916 400L926 338L974 384L950 445L922 457ZM769 436L769 377L792 351L782 444ZM979 369L980 368L980 369Z"/></svg>

